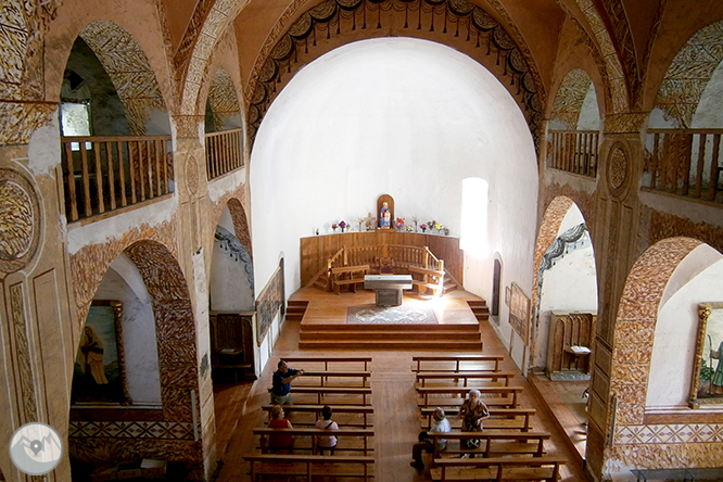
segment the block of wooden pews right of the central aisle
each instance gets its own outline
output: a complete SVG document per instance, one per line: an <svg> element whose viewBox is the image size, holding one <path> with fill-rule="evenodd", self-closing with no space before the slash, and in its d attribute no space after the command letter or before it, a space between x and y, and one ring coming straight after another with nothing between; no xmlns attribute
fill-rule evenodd
<svg viewBox="0 0 723 482"><path fill-rule="evenodd" d="M432 442L447 441L434 453L430 474L435 481L550 481L559 479L565 459L547 456L548 432L535 431L530 419L535 409L519 405L522 386L513 384L512 372L500 370L504 356L416 356L416 376L421 429L428 430L435 407L442 407L452 433L429 433ZM482 432L461 432L459 407L471 389L482 393L490 408ZM480 440L475 449L461 446L464 440Z"/></svg>

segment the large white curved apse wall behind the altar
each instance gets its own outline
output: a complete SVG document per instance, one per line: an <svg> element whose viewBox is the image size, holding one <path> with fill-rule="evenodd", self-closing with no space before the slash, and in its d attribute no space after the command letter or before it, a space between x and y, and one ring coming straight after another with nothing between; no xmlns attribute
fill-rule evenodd
<svg viewBox="0 0 723 482"><path fill-rule="evenodd" d="M489 252L466 256L465 288L492 297L496 251L506 279L530 289L537 168L529 127L492 74L447 47L365 40L307 65L270 106L250 169L256 290L286 252L295 291L299 238L373 213L382 193L396 216L433 218L459 236L466 177L490 182L490 226Z"/></svg>

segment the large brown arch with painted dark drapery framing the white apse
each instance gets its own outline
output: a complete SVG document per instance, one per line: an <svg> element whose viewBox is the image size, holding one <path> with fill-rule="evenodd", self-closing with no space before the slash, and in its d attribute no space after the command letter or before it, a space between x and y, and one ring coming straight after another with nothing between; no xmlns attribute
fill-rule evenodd
<svg viewBox="0 0 723 482"><path fill-rule="evenodd" d="M495 73L516 99L535 139L540 138L544 85L521 36L508 33L493 15L468 1L453 0L327 0L301 15L293 4L281 15L256 58L244 91L249 139L256 131L269 105L302 65L338 47L362 38L405 36L440 41L435 28L465 38L477 62ZM292 17L290 27L282 25ZM364 30L359 36L358 31ZM392 31L392 33L390 33ZM345 37L347 36L347 37ZM334 39L318 48L317 39ZM442 37L444 38L444 37ZM443 42L449 43L452 41ZM507 77L505 81L504 77Z"/></svg>

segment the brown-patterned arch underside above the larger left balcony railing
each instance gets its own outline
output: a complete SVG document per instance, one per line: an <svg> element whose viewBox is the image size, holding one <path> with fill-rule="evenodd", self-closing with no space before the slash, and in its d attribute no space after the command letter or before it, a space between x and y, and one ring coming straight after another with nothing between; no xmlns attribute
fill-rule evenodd
<svg viewBox="0 0 723 482"><path fill-rule="evenodd" d="M167 115L155 74L136 39L105 20L90 22L79 37L92 49L123 102L130 134L145 135L153 112ZM165 126L163 126L165 127Z"/></svg>

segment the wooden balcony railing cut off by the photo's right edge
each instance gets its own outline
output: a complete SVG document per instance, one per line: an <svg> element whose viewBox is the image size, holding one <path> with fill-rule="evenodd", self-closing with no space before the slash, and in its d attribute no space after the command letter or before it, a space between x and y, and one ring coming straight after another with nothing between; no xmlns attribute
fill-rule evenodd
<svg viewBox="0 0 723 482"><path fill-rule="evenodd" d="M723 129L648 129L643 188L723 203Z"/></svg>

